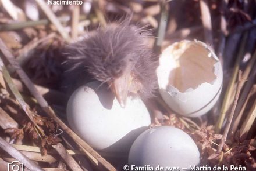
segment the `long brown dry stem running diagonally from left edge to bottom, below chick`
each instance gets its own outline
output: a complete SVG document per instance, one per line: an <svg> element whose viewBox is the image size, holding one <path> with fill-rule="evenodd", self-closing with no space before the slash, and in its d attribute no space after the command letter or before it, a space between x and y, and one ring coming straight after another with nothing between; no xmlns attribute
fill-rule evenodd
<svg viewBox="0 0 256 171"><path fill-rule="evenodd" d="M44 97L41 96L41 94L38 92L38 90L35 88L33 82L29 79L27 74L22 70L22 68L19 66L19 64L15 61L14 57L6 47L6 45L3 43L2 39L0 39L0 49L2 50L2 53L5 54L6 58L12 64L13 67L15 67L15 70L17 74L19 75L20 79L22 79L22 82L27 86L30 93L33 94L35 99L37 99L38 104L42 107L42 109L49 115L49 117L52 117L56 123L58 123L59 126L67 133L70 137L72 137L77 144L80 144L83 147L84 152L88 157L93 157L96 159L99 163L101 163L103 166L105 166L108 170L116 170L109 162L107 162L104 158L102 158L93 148L91 148L86 142L84 142L77 134L75 134L68 126L66 126L65 123L61 121L56 115L55 112L52 110L51 107L48 106L47 101L45 101ZM0 61L1 63L1 61Z"/></svg>

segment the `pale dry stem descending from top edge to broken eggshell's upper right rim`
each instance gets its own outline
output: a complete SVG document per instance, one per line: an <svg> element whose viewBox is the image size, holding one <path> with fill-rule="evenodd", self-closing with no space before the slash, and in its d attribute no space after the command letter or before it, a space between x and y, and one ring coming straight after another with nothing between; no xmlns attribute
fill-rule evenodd
<svg viewBox="0 0 256 171"><path fill-rule="evenodd" d="M214 52L214 38L212 37L212 20L207 0L200 0L200 10L202 16L202 25L204 26L205 43Z"/></svg>

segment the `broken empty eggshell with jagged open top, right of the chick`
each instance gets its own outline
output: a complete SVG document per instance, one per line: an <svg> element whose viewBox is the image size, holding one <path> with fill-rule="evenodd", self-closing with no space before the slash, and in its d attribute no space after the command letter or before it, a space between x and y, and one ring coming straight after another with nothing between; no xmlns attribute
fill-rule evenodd
<svg viewBox="0 0 256 171"><path fill-rule="evenodd" d="M221 94L221 63L200 41L185 40L163 50L157 76L163 100L187 117L206 114Z"/></svg>

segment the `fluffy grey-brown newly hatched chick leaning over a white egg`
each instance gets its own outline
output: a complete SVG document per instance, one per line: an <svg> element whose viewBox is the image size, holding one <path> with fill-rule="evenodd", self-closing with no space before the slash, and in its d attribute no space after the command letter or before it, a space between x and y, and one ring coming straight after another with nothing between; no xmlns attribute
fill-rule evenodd
<svg viewBox="0 0 256 171"><path fill-rule="evenodd" d="M130 24L130 18L98 28L66 47L66 86L76 89L90 81L108 83L120 105L127 96L152 97L157 85L157 57L148 48L150 31Z"/></svg>

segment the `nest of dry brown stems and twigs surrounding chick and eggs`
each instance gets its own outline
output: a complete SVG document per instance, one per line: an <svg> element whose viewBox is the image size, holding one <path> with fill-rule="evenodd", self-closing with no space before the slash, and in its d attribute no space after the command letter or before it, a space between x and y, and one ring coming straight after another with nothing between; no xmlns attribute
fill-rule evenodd
<svg viewBox="0 0 256 171"><path fill-rule="evenodd" d="M223 66L221 97L207 115L182 117L155 97L164 118L152 119L151 126L171 125L190 134L202 166L256 170L255 1L47 2L0 1L1 170L12 161L24 163L29 170L122 168L67 126L68 97L60 89L61 47L131 12L132 22L154 30L148 45L156 53L170 43L198 39L212 46Z"/></svg>

